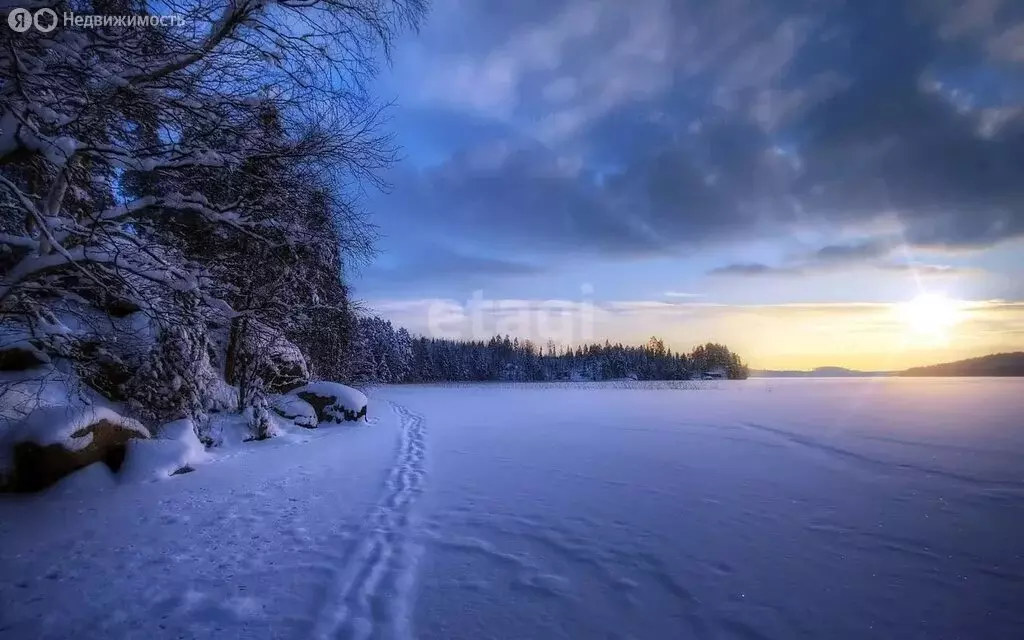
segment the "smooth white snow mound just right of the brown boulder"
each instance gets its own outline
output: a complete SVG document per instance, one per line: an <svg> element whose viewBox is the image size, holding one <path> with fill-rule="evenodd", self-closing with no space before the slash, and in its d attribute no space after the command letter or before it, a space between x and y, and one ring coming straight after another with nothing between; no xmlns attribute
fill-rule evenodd
<svg viewBox="0 0 1024 640"><path fill-rule="evenodd" d="M195 470L207 459L193 421L175 420L162 426L152 440L132 440L119 473L122 482L160 480Z"/></svg>

